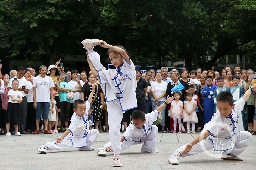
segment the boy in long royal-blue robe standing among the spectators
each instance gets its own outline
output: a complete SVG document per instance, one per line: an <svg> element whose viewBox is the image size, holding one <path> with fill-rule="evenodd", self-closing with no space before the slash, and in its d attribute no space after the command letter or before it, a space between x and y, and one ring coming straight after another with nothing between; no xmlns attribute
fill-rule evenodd
<svg viewBox="0 0 256 170"><path fill-rule="evenodd" d="M213 102L213 92L217 88L217 86L212 84L213 77L207 76L206 77L206 86L203 88L203 95L204 95L204 124L211 120L212 115L214 114L214 102Z"/></svg>

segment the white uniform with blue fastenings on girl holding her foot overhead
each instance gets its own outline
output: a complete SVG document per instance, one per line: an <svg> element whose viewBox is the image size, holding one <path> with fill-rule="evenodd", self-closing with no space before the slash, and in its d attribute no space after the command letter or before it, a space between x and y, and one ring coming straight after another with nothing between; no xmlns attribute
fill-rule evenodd
<svg viewBox="0 0 256 170"><path fill-rule="evenodd" d="M100 63L97 52L86 48L89 59L98 71L99 82L105 94L108 110L109 136L115 155L121 151L120 128L123 113L137 107L135 90L137 87L135 65L123 58L124 64L116 69L108 69Z"/></svg>

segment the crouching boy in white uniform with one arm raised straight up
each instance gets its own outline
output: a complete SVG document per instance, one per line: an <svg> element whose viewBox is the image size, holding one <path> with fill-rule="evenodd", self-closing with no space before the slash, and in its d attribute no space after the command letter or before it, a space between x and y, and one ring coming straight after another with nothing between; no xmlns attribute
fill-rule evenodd
<svg viewBox="0 0 256 170"><path fill-rule="evenodd" d="M47 142L40 146L37 150L41 154L46 154L46 150L65 149L70 146L79 148L78 150L93 150L92 145L99 135L97 129L89 130L88 110L90 102L94 94L95 87L92 86L92 92L88 100L84 103L83 100L76 100L73 103L74 114L71 118L71 124L61 137L56 138L55 142Z"/></svg>

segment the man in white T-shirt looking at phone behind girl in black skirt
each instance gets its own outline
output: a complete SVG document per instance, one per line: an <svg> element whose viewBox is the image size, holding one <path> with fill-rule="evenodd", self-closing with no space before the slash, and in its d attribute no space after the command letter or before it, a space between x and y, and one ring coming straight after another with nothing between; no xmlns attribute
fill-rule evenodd
<svg viewBox="0 0 256 170"><path fill-rule="evenodd" d="M11 78L8 88L9 90L12 89L12 81L14 79L17 79L19 81L19 88L17 89L22 93L22 102L20 103L20 129L19 132L21 134L27 134L25 131L26 127L26 119L27 119L27 97L26 95L28 94L28 82L24 77L25 73L25 67L20 66L17 70L17 76Z"/></svg>

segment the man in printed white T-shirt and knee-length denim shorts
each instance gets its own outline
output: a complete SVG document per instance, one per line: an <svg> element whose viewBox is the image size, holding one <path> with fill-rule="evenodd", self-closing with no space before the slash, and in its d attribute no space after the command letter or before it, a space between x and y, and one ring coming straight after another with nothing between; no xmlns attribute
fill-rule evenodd
<svg viewBox="0 0 256 170"><path fill-rule="evenodd" d="M33 134L39 133L39 122L41 119L41 110L43 108L44 133L51 134L48 130L48 113L50 107L53 107L53 81L52 78L46 76L47 67L42 65L39 67L40 75L33 81L33 100L36 109L36 130ZM52 104L51 104L52 103ZM50 105L51 104L51 105Z"/></svg>

